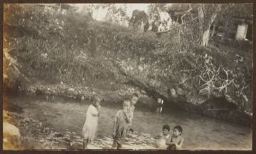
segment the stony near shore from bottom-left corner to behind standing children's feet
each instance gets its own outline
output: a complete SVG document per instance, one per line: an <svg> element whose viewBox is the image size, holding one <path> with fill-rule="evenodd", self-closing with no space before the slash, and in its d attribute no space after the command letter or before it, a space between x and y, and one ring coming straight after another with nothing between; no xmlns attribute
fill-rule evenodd
<svg viewBox="0 0 256 154"><path fill-rule="evenodd" d="M55 132L42 122L3 110L3 149L82 149L82 138L68 129ZM8 127L7 127L8 126ZM10 133L15 130L15 133ZM14 132L14 131L13 131ZM126 137L124 149L156 149L156 138L134 132ZM112 138L98 136L89 149L110 149Z"/></svg>

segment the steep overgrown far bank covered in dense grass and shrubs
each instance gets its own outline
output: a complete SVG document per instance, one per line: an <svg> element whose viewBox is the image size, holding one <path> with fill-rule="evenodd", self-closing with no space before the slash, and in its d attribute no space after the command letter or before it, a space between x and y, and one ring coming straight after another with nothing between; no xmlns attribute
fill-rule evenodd
<svg viewBox="0 0 256 154"><path fill-rule="evenodd" d="M133 81L167 100L201 104L225 97L252 112L252 49L247 42L193 42L178 25L161 38L98 22L72 10L63 14L27 5L4 7L5 87L66 83L118 91Z"/></svg>

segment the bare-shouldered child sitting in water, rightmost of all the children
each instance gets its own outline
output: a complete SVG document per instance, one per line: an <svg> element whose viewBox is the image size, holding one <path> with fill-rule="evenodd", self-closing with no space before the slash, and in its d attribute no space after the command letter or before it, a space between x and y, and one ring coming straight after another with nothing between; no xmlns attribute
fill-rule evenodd
<svg viewBox="0 0 256 154"><path fill-rule="evenodd" d="M170 135L170 137L166 141L166 145L169 145L167 149L169 150L181 149L183 142L184 142L184 138L182 137L182 127L175 126L174 134Z"/></svg>

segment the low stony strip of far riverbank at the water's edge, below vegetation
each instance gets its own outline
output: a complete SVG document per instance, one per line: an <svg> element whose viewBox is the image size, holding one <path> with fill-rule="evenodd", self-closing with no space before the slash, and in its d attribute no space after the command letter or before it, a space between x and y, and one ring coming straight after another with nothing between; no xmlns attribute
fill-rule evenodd
<svg viewBox="0 0 256 154"><path fill-rule="evenodd" d="M156 107L155 98L148 96L146 91L132 85L120 85L116 91L102 90L95 87L84 87L82 85L72 85L63 83L57 84L36 83L26 87L18 87L17 91L8 89L7 93L23 93L30 96L46 96L47 98L62 97L76 100L88 100L90 96L98 94L104 102L122 102L124 97L129 97L132 93L137 93L140 100L137 105Z"/></svg>

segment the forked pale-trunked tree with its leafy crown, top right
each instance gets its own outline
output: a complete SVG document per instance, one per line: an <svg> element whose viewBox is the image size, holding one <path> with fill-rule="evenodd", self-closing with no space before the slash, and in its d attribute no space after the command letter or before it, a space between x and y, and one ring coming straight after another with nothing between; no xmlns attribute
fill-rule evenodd
<svg viewBox="0 0 256 154"><path fill-rule="evenodd" d="M253 5L251 3L173 4L169 7L169 13L172 13L173 16L176 13L179 13L179 15L180 13L190 13L191 18L186 19L192 19L192 22L185 20L184 24L189 24L186 27L190 27L194 38L198 38L199 46L204 47L209 46L210 27L212 24L221 25L225 28L225 32L230 32L236 28L236 17L252 19L252 10ZM181 16L184 17L184 15ZM198 28L195 28L195 24Z"/></svg>

